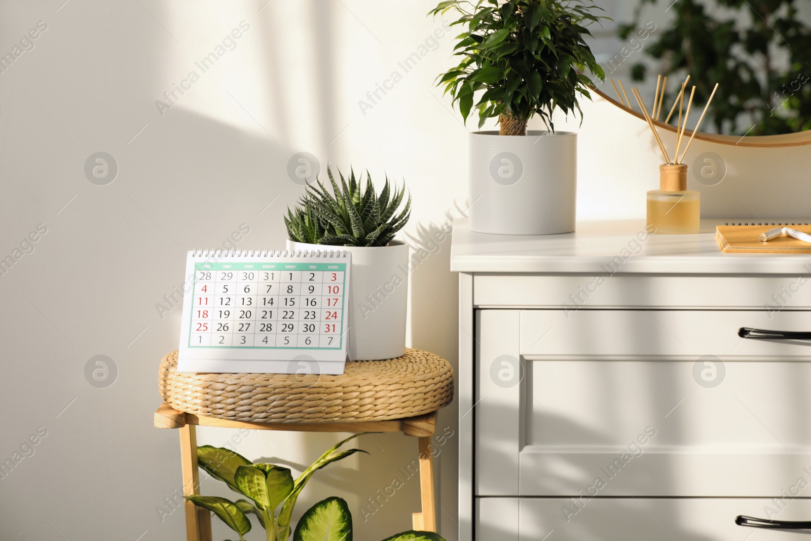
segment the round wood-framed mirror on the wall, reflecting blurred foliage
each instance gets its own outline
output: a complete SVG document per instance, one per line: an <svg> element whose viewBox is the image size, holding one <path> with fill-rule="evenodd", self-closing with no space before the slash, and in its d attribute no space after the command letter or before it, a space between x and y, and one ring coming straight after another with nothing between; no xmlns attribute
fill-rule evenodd
<svg viewBox="0 0 811 541"><path fill-rule="evenodd" d="M594 85L599 96L644 120L631 92L637 87L657 125L676 131L681 85L689 76L684 109L693 86L695 96L685 133L718 83L696 139L811 144L809 0L596 3L614 21L590 27L591 48L606 74Z"/></svg>

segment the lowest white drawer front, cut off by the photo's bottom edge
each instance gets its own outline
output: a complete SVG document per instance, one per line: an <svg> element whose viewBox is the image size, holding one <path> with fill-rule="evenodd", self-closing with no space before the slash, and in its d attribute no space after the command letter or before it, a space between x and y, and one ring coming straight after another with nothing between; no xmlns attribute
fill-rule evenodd
<svg viewBox="0 0 811 541"><path fill-rule="evenodd" d="M808 476L806 476L808 479ZM476 541L792 541L809 530L738 526L738 515L811 520L811 500L478 498ZM577 505L576 505L577 504Z"/></svg>

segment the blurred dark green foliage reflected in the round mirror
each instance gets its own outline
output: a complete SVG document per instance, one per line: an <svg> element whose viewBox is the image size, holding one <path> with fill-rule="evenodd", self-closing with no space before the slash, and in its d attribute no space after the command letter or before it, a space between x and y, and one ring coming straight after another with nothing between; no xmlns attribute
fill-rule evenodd
<svg viewBox="0 0 811 541"><path fill-rule="evenodd" d="M639 0L633 23L620 26L620 37L637 27L642 7L654 2ZM663 75L678 75L671 80L693 75L689 84L697 87L697 103L706 102L715 83L720 84L706 118L719 133L775 135L811 129L811 28L797 18L799 2L714 0L727 10L726 17L707 10L706 3L674 3L670 27L656 32L659 41L646 47L646 54L661 61ZM745 24L736 21L735 11L742 11ZM783 55L788 65L781 68L777 58ZM645 79L646 67L635 65L632 75Z"/></svg>

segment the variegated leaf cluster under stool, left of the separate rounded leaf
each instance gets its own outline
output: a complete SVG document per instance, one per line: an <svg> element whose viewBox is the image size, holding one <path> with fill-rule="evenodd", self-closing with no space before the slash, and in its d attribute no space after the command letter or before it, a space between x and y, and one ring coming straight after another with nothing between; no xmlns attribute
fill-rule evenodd
<svg viewBox="0 0 811 541"><path fill-rule="evenodd" d="M239 539L244 539L242 536L251 530L251 521L247 514L252 513L259 518L260 525L264 528L266 541L287 541L290 537L290 516L307 481L312 474L328 464L354 453L366 453L362 449L338 450L347 441L358 436L360 434L355 434L335 444L295 480L288 468L265 463L252 464L247 458L229 449L203 445L197 448L198 465L213 478L226 483L234 492L253 500L253 503L248 500L230 501L216 496L186 496L186 499L213 511L226 526L237 532ZM280 505L276 515L276 509Z"/></svg>

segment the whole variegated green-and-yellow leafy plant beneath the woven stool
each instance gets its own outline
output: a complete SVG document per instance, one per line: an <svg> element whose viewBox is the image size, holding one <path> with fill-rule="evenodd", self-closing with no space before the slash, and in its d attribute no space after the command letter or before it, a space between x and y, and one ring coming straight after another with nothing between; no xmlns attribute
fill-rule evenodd
<svg viewBox="0 0 811 541"><path fill-rule="evenodd" d="M324 466L354 453L367 453L363 449L339 450L343 444L361 434L355 434L333 445L326 453L293 479L289 468L274 464L253 464L246 457L230 449L203 445L197 448L197 463L214 479L246 496L232 501L220 496L185 496L195 505L212 511L241 541L251 531L249 514L254 514L264 529L265 541L288 541L290 518L312 474ZM250 501L249 501L250 500ZM277 513L278 509L278 513ZM352 514L345 500L330 497L308 509L298 521L294 541L352 541ZM445 541L431 532L406 531L385 541Z"/></svg>

